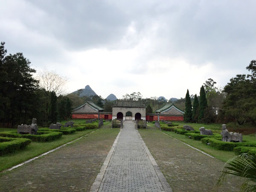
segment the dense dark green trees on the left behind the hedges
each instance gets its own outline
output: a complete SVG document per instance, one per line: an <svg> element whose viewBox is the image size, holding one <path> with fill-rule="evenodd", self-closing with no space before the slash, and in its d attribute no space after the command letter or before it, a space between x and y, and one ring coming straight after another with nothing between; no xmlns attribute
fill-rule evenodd
<svg viewBox="0 0 256 192"><path fill-rule="evenodd" d="M31 124L36 118L41 126L70 118L71 103L65 96L39 86L30 61L18 52L7 55L0 44L0 123L14 127Z"/></svg>

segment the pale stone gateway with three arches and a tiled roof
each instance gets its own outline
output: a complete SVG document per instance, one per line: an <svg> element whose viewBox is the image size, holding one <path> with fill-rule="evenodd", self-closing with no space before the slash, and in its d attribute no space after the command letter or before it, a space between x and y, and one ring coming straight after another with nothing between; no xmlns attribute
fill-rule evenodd
<svg viewBox="0 0 256 192"><path fill-rule="evenodd" d="M112 119L120 119L120 114L123 120L146 120L146 107L142 101L123 101L116 100L116 104L113 105Z"/></svg>

